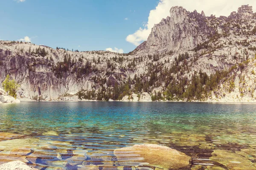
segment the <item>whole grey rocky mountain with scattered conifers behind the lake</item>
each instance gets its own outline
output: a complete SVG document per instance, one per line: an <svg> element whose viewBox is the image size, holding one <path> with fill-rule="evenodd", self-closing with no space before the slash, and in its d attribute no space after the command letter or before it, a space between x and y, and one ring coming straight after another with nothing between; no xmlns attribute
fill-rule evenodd
<svg viewBox="0 0 256 170"><path fill-rule="evenodd" d="M0 41L0 82L9 74L23 99L254 102L255 19L248 5L228 17L175 6L128 54Z"/></svg>

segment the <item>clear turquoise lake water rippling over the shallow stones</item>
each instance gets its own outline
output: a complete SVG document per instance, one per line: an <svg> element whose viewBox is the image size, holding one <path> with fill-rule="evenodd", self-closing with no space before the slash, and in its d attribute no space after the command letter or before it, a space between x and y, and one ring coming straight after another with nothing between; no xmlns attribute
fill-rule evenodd
<svg viewBox="0 0 256 170"><path fill-rule="evenodd" d="M58 136L48 134L49 131L55 131ZM31 152L20 158L43 170L77 169L79 165L114 169L123 164L116 159L113 150L143 143L172 147L191 156L196 164L201 163L200 159L209 159L215 149L255 149L256 105L183 102L2 104L0 132L21 134L24 140L38 139L26 146L32 148ZM1 145L3 139L0 140ZM74 150L87 150L87 158L70 163ZM0 152L0 162L9 159L12 153ZM126 167L136 165L147 167L136 159Z"/></svg>

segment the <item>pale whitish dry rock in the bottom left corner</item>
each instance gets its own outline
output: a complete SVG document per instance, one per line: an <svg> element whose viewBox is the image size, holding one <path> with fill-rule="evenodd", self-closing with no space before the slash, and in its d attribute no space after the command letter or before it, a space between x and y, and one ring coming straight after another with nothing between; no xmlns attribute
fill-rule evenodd
<svg viewBox="0 0 256 170"><path fill-rule="evenodd" d="M0 170L38 170L29 165L25 164L22 161L12 161L6 164L0 165Z"/></svg>

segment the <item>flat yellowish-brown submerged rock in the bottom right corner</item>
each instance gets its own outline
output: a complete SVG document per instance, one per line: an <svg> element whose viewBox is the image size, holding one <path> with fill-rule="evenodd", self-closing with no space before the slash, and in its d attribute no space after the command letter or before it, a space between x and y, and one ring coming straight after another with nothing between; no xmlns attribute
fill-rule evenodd
<svg viewBox="0 0 256 170"><path fill-rule="evenodd" d="M210 159L224 164L229 170L256 170L250 160L230 150L214 150Z"/></svg>

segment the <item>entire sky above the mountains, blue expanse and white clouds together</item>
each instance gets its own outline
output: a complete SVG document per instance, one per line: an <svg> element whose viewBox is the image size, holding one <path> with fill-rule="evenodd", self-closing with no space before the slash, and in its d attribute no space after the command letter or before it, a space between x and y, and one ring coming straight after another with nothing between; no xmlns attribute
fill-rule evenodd
<svg viewBox="0 0 256 170"><path fill-rule="evenodd" d="M256 0L0 0L0 40L128 53L172 6L228 16Z"/></svg>

